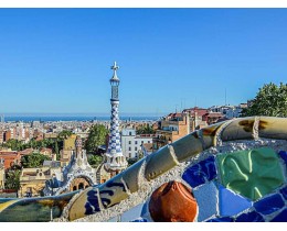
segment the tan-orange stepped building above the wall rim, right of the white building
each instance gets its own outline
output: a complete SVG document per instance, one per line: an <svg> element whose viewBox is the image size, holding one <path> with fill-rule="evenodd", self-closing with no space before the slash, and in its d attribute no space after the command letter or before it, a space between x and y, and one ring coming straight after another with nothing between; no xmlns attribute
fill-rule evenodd
<svg viewBox="0 0 287 231"><path fill-rule="evenodd" d="M159 121L159 130L152 139L152 151L177 141L190 133L189 113L170 113Z"/></svg>

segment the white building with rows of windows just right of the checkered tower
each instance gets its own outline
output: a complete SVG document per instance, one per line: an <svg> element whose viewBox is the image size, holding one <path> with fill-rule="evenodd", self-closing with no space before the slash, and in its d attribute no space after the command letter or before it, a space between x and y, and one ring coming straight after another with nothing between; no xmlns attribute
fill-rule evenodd
<svg viewBox="0 0 287 231"><path fill-rule="evenodd" d="M134 129L124 129L121 131L121 150L127 158L138 157L141 145L145 143L152 143L152 134L137 135Z"/></svg>

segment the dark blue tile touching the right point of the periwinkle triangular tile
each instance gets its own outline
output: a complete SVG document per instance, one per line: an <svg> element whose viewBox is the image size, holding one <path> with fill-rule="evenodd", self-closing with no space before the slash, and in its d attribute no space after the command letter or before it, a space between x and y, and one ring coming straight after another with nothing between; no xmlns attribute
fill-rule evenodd
<svg viewBox="0 0 287 231"><path fill-rule="evenodd" d="M266 197L254 204L254 208L262 215L270 215L284 207L283 198L279 194Z"/></svg>

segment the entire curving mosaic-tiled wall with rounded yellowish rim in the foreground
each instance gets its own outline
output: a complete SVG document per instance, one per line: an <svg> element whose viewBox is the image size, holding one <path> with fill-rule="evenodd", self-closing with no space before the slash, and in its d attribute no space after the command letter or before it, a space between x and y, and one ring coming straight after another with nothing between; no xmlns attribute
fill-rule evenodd
<svg viewBox="0 0 287 231"><path fill-rule="evenodd" d="M0 199L0 221L287 221L286 151L287 118L225 121L83 191Z"/></svg>

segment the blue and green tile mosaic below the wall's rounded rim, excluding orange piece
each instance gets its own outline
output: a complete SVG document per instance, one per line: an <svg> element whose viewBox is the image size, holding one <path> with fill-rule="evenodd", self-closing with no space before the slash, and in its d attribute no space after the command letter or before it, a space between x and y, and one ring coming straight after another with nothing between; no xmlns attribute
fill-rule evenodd
<svg viewBox="0 0 287 231"><path fill-rule="evenodd" d="M269 147L261 147L212 155L189 166L182 179L191 187L199 207L194 221L287 221L285 154L284 151L277 154ZM249 184L257 191L252 191ZM120 220L153 222L148 206L147 200L134 207L124 212ZM141 213L138 208L141 208Z"/></svg>

